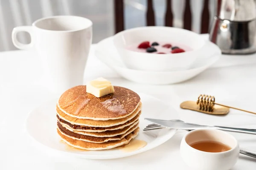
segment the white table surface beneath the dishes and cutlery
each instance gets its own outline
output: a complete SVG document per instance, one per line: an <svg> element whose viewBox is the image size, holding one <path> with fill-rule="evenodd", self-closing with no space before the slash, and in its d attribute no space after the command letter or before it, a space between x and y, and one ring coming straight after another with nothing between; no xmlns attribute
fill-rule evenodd
<svg viewBox="0 0 256 170"><path fill-rule="evenodd" d="M194 79L175 85L145 85L129 82L93 56L87 61L84 80L105 77L113 85L151 94L168 102L186 122L256 128L256 115L231 110L227 116L211 116L179 108L184 100L199 94L215 95L217 102L256 111L256 64L211 68ZM41 102L55 95L40 80L38 55L33 51L0 53L0 170L190 170L180 157L179 146L185 131L178 130L168 142L135 156L113 160L64 157L38 147L26 133L24 122ZM47 123L47 122L46 122ZM256 150L256 136L232 133L240 146ZM232 170L255 170L256 159L239 156Z"/></svg>

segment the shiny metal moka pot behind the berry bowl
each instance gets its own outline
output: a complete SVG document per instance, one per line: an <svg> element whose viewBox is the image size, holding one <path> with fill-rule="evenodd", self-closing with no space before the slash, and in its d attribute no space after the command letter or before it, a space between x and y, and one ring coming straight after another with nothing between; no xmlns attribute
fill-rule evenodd
<svg viewBox="0 0 256 170"><path fill-rule="evenodd" d="M256 52L255 0L222 0L220 14L214 17L209 39L224 54Z"/></svg>

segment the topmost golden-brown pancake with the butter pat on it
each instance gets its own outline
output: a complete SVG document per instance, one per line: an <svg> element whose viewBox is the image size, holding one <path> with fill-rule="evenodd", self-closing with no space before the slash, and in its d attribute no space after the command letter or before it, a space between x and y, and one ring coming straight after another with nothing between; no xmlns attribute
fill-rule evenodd
<svg viewBox="0 0 256 170"><path fill-rule="evenodd" d="M140 96L127 88L114 86L115 92L97 98L86 93L86 85L65 91L58 99L58 108L78 119L115 120L125 118L137 109Z"/></svg>

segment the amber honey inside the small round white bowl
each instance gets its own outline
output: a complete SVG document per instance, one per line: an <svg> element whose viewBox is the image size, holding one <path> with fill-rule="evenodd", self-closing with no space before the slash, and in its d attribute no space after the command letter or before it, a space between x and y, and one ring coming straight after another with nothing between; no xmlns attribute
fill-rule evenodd
<svg viewBox="0 0 256 170"><path fill-rule="evenodd" d="M227 144L215 141L200 141L192 143L190 146L204 152L225 152L231 149Z"/></svg>

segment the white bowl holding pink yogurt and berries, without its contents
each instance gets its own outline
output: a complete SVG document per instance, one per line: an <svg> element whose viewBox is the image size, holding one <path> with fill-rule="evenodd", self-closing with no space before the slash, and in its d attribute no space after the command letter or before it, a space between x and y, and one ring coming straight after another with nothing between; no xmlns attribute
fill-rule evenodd
<svg viewBox="0 0 256 170"><path fill-rule="evenodd" d="M177 54L152 54L127 49L143 41L175 42L192 48ZM178 71L186 70L195 62L206 41L195 32L181 28L148 26L121 31L113 36L114 45L124 64L131 69L143 71Z"/></svg>

